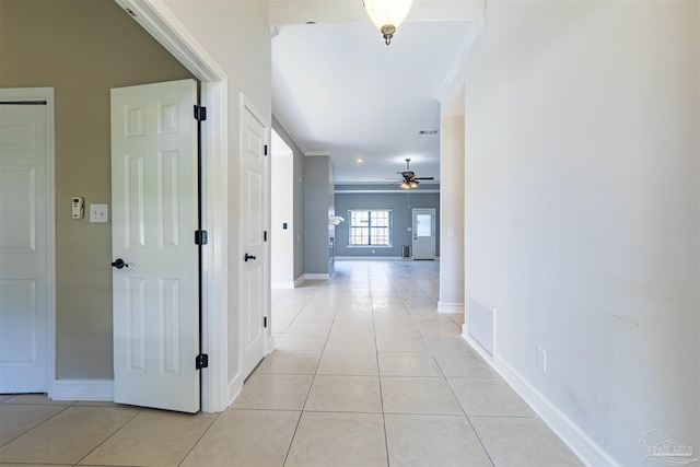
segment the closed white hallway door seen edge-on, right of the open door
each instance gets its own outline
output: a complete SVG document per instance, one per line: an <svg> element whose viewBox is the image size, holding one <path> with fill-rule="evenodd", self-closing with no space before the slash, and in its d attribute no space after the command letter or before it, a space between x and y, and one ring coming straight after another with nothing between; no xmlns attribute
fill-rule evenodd
<svg viewBox="0 0 700 467"><path fill-rule="evenodd" d="M267 317L265 230L267 222L267 126L243 106L241 141L241 313L243 373L247 377L265 357Z"/></svg>

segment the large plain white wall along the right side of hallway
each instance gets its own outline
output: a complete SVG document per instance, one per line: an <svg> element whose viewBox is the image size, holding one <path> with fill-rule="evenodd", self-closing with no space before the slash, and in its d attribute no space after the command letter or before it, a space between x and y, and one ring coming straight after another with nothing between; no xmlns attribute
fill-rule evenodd
<svg viewBox="0 0 700 467"><path fill-rule="evenodd" d="M466 62L467 293L497 365L621 465L646 430L700 446L699 19L491 1Z"/></svg>

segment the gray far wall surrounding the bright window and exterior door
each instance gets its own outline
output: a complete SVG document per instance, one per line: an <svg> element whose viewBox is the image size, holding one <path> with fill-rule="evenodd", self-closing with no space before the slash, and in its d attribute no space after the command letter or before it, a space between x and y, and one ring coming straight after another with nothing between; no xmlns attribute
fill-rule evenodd
<svg viewBox="0 0 700 467"><path fill-rule="evenodd" d="M421 185L422 187L422 185ZM347 187L342 187L343 190ZM366 188L366 186L364 187ZM440 256L440 194L420 192L421 188L412 191L398 192L336 192L336 215L346 222L336 227L336 256L401 256L401 245L412 243L412 234L408 227L412 225L412 209L435 209L435 255ZM386 247L348 247L348 232L350 230L349 209L390 209L393 215L393 245ZM372 254L374 249L374 254Z"/></svg>

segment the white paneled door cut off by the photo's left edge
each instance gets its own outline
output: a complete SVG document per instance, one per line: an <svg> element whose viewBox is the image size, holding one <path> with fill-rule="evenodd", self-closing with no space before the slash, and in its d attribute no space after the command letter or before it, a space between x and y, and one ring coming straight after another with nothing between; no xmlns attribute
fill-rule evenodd
<svg viewBox="0 0 700 467"><path fill-rule="evenodd" d="M49 378L48 112L22 91L0 90L0 394L46 393Z"/></svg>

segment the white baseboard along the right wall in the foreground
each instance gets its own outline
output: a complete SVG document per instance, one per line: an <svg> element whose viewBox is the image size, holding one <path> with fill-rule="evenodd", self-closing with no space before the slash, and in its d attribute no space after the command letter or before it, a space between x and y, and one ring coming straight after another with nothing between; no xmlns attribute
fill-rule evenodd
<svg viewBox="0 0 700 467"><path fill-rule="evenodd" d="M470 336L462 335L487 363L530 406L537 416L569 448L588 466L619 466L600 446L584 433L565 413L538 392L499 354L493 358Z"/></svg>

